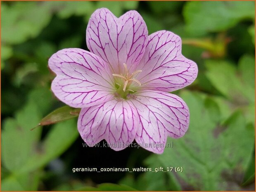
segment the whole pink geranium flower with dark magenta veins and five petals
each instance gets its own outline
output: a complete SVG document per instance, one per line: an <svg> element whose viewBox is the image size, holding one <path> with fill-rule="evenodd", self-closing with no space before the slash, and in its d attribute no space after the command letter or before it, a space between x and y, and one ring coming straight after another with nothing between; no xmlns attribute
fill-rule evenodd
<svg viewBox="0 0 256 192"><path fill-rule="evenodd" d="M70 48L49 59L57 76L51 89L65 104L82 108L78 131L94 146L105 139L119 151L135 140L161 154L168 136L182 137L189 125L185 102L169 92L190 85L197 65L181 55L181 39L169 31L148 36L140 14L116 18L108 9L91 16L90 52Z"/></svg>

